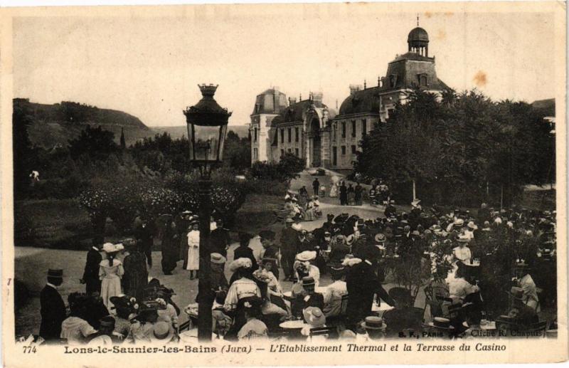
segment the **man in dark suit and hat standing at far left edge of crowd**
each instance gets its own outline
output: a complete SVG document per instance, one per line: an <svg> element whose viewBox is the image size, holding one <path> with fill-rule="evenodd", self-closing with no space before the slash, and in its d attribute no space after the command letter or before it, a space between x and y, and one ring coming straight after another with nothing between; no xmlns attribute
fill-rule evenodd
<svg viewBox="0 0 569 368"><path fill-rule="evenodd" d="M63 270L48 270L48 283L40 293L40 336L48 342L59 341L61 322L66 317L65 303L57 290L62 283Z"/></svg>

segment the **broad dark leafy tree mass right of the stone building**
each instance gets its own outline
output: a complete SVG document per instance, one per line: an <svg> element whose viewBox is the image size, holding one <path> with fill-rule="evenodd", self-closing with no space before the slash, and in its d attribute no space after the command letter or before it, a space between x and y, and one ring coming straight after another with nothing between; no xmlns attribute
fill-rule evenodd
<svg viewBox="0 0 569 368"><path fill-rule="evenodd" d="M400 199L415 181L421 199L439 204L479 204L501 190L511 201L522 185L553 177L555 137L543 117L477 90L415 90L363 137L354 169L387 180Z"/></svg>

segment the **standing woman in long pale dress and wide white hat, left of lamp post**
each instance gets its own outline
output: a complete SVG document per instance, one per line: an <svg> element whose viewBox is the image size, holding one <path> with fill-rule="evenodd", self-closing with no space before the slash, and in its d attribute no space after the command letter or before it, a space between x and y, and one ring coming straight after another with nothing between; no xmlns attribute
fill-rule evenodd
<svg viewBox="0 0 569 368"><path fill-rule="evenodd" d="M122 294L121 278L124 275L122 262L116 259L117 253L124 250L122 244L105 243L102 250L107 254L107 259L99 264L99 278L101 279L101 298L105 307L110 309L110 298Z"/></svg>

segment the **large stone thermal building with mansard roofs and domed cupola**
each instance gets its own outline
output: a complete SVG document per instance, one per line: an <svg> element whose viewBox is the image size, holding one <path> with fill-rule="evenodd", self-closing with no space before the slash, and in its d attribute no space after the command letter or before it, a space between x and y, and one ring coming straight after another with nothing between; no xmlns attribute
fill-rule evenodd
<svg viewBox="0 0 569 368"><path fill-rule="evenodd" d="M337 115L322 103L321 93L298 102L287 100L278 88L257 95L250 124L252 162L275 162L289 152L306 159L307 167L351 169L363 135L386 122L411 90L440 93L447 88L437 78L435 58L429 57L427 31L414 28L407 42L408 52L388 64L378 85L350 85Z"/></svg>

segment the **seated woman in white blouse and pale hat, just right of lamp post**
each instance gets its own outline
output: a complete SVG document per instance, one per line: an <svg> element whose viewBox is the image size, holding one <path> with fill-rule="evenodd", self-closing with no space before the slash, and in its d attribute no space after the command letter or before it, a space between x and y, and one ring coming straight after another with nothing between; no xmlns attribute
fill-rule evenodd
<svg viewBox="0 0 569 368"><path fill-rule="evenodd" d="M233 326L231 326L225 340L237 337L237 332L245 325L245 310L243 310L243 299L256 296L261 298L261 291L254 281L252 275L252 262L249 258L238 258L229 265L229 269L235 273L235 282L233 282L225 297L223 309L230 316L234 317Z"/></svg>

